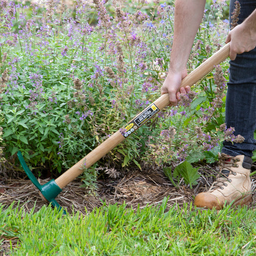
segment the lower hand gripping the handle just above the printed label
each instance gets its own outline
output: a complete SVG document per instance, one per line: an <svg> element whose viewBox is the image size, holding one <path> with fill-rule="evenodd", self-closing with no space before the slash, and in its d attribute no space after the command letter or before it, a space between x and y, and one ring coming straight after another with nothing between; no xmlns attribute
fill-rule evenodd
<svg viewBox="0 0 256 256"><path fill-rule="evenodd" d="M191 91L189 86L180 88L181 81L186 76L187 70L177 73L169 71L167 74L163 86L161 87L161 94L169 93L169 106L177 105L178 101L180 100L180 94L185 94Z"/></svg>

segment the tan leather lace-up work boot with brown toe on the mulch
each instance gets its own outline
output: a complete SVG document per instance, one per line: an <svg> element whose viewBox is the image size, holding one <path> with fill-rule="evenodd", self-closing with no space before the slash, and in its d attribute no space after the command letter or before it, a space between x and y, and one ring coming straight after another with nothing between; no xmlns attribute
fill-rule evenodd
<svg viewBox="0 0 256 256"><path fill-rule="evenodd" d="M195 197L195 206L220 210L225 204L245 205L252 202L250 157L219 154L219 169L216 181L207 192Z"/></svg>

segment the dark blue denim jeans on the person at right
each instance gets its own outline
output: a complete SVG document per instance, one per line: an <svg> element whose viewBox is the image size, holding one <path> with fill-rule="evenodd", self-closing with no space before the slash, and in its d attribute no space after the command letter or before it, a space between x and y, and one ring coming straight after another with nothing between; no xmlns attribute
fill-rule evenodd
<svg viewBox="0 0 256 256"><path fill-rule="evenodd" d="M230 0L230 17L235 0ZM256 8L256 1L239 0L241 12L238 23L242 23ZM241 38L243 40L243 38ZM235 128L235 135L244 137L243 143L223 142L222 153L230 156L252 156L256 149L253 133L256 130L256 48L238 54L230 61L230 76L226 98L226 124Z"/></svg>

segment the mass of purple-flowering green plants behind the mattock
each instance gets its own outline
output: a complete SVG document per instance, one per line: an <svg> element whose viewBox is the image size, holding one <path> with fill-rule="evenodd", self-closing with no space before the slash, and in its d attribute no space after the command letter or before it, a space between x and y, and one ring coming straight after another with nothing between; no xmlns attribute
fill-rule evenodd
<svg viewBox="0 0 256 256"><path fill-rule="evenodd" d="M57 0L26 3L1 1L5 153L21 150L34 170L61 172L159 97L169 66L174 7L144 0L135 7L117 0L77 0L74 9ZM223 43L228 29L221 20L223 6L225 1L214 3L206 11L188 69ZM221 28L218 37L212 21ZM224 123L227 75L217 67L178 107L151 119L98 165L122 169L129 163L140 167L142 161L193 162L209 152L214 158L223 138L219 126Z"/></svg>

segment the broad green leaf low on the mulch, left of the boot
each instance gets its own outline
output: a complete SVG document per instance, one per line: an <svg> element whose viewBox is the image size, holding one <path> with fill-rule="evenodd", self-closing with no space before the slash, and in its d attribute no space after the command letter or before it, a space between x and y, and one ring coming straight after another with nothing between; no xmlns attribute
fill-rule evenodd
<svg viewBox="0 0 256 256"><path fill-rule="evenodd" d="M192 185L196 185L196 180L200 177L197 170L198 168L194 168L190 163L185 161L174 169L173 176L181 176L185 183L189 184L190 188L192 188Z"/></svg>

